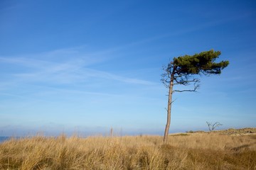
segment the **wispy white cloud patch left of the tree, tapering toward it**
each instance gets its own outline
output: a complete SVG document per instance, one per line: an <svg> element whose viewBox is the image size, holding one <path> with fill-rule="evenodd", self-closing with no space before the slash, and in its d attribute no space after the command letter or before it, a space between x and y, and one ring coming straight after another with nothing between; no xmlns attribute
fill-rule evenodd
<svg viewBox="0 0 256 170"><path fill-rule="evenodd" d="M66 53L65 53L66 52ZM75 56L75 57L74 57ZM43 60L42 58L46 58ZM55 58L63 58L63 62L54 62ZM38 59L39 58L39 59ZM109 79L129 84L152 85L151 81L124 77L97 69L90 69L90 65L104 61L95 57L85 57L78 51L55 50L28 57L0 57L0 62L9 67L19 68L18 72L8 74L11 81L44 82L52 84L73 84L92 79Z"/></svg>

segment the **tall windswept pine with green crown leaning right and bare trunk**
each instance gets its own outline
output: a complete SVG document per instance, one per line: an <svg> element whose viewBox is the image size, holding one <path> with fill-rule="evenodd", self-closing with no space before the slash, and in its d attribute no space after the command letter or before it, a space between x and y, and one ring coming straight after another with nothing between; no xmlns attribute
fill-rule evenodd
<svg viewBox="0 0 256 170"><path fill-rule="evenodd" d="M174 92L196 91L200 79L198 75L221 74L221 70L228 66L228 61L215 62L220 56L220 51L209 50L195 55L184 55L174 59L164 67L161 81L169 88L167 107L167 123L164 131L164 142L167 142L171 124L171 103ZM193 84L193 89L174 89L174 85L188 86Z"/></svg>

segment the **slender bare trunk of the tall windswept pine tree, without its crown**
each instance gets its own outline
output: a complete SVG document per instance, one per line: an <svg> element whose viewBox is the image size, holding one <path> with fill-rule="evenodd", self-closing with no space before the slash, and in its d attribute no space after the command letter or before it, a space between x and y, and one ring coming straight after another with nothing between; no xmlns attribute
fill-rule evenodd
<svg viewBox="0 0 256 170"><path fill-rule="evenodd" d="M169 134L169 128L171 124L171 98L173 94L173 87L174 87L174 75L171 74L171 82L169 85L169 99L168 99L168 108L167 108L167 123L166 123L166 128L164 130L164 143L167 142L168 139L168 134Z"/></svg>

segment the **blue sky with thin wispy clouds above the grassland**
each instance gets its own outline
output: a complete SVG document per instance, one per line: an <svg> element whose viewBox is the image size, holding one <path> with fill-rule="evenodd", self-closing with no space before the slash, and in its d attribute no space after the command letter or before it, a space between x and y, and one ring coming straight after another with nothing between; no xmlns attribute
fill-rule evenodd
<svg viewBox="0 0 256 170"><path fill-rule="evenodd" d="M0 1L0 135L163 135L173 57L230 65L175 94L170 132L256 127L255 1ZM220 61L219 60L219 61Z"/></svg>

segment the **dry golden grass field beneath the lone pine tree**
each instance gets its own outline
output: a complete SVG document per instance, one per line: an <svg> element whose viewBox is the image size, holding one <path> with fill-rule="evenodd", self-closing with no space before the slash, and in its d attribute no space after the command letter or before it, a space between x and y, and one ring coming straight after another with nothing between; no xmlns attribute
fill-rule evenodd
<svg viewBox="0 0 256 170"><path fill-rule="evenodd" d="M0 169L256 169L256 135L13 139L0 144Z"/></svg>

